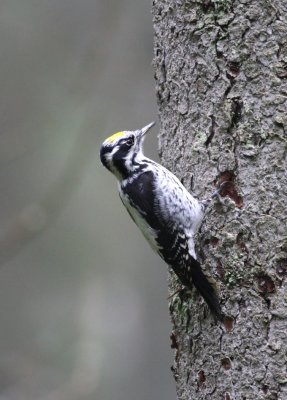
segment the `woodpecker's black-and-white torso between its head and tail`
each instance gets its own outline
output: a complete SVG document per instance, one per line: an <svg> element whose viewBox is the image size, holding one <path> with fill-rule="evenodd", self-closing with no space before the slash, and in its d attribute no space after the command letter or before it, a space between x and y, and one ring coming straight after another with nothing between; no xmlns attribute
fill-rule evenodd
<svg viewBox="0 0 287 400"><path fill-rule="evenodd" d="M120 197L130 216L151 247L171 249L184 237L194 254L193 235L203 218L203 208L181 182L161 165L147 160L146 167L132 180L122 181Z"/></svg>

